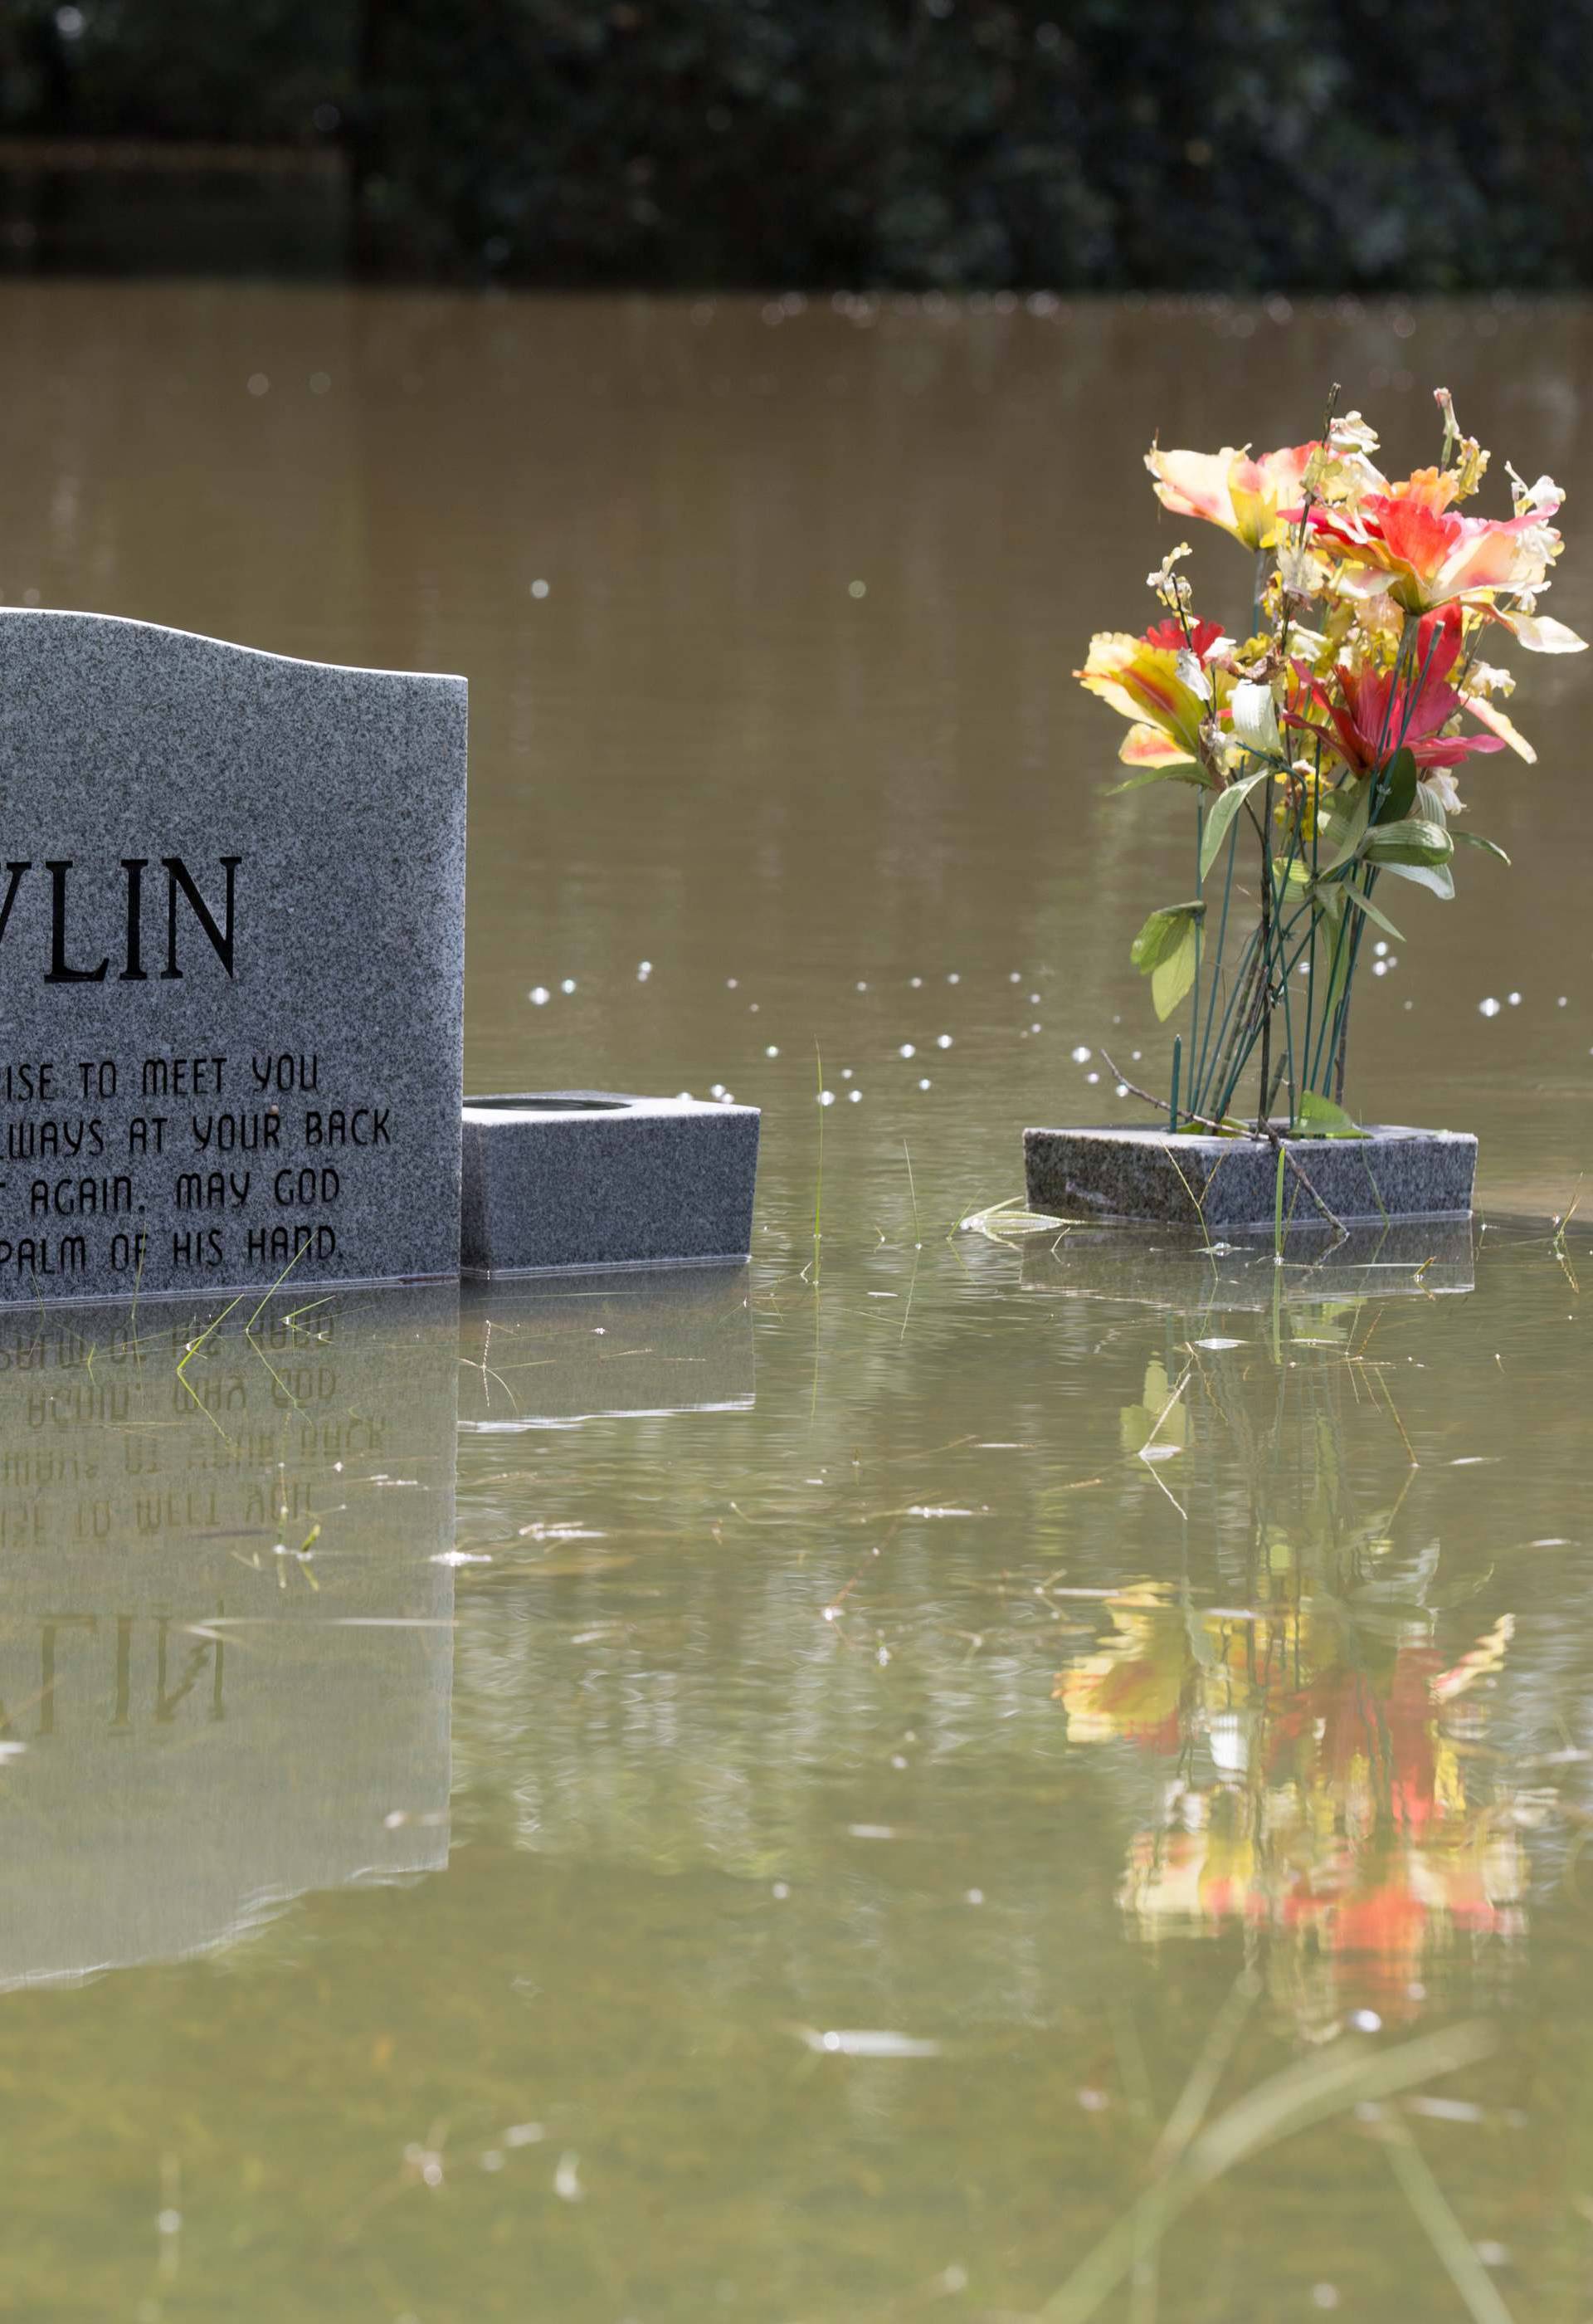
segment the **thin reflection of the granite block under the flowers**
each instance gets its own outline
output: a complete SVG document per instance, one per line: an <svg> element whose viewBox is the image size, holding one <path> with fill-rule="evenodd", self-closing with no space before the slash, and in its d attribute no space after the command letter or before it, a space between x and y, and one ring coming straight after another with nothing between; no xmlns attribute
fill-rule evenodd
<svg viewBox="0 0 1593 2324"><path fill-rule="evenodd" d="M1317 1229L1284 1236L1231 1229L1210 1246L1187 1229L1073 1227L1024 1241L1022 1287L1073 1299L1133 1299L1156 1308L1270 1308L1475 1290L1470 1218Z"/></svg>

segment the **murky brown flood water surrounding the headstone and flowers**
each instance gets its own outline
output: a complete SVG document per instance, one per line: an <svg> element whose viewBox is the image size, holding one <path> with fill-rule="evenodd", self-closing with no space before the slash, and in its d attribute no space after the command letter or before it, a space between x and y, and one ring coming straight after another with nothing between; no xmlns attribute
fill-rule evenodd
<svg viewBox="0 0 1593 2324"><path fill-rule="evenodd" d="M467 1083L764 1109L745 1271L0 1318L0 2315L1581 2324L1588 665L1356 1004L1472 1232L961 1222L1166 1081L1184 804L1071 679L1152 432L1340 379L1405 465L1447 383L1586 632L1588 376L1574 304L0 288L0 597L464 672Z"/></svg>

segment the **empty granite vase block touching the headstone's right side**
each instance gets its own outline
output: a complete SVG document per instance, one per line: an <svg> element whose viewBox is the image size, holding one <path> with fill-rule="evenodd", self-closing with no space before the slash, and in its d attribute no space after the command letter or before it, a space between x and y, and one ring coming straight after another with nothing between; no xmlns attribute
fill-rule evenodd
<svg viewBox="0 0 1593 2324"><path fill-rule="evenodd" d="M757 1106L543 1090L467 1097L460 1267L745 1262Z"/></svg>

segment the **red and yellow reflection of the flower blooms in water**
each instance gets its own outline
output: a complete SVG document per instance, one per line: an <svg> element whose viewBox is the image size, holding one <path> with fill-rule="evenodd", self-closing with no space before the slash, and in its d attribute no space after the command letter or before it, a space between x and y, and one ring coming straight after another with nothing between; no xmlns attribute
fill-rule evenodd
<svg viewBox="0 0 1593 2324"><path fill-rule="evenodd" d="M1410 1643L1412 1624L1393 1643L1358 1631L1340 1599L1235 1615L1140 1583L1110 1618L1057 1697L1075 1741L1180 1759L1161 1827L1129 1850L1122 1903L1143 1934L1238 1922L1358 1957L1403 1996L1451 1936L1521 1931L1521 1841L1468 1799L1451 1734L1458 1697L1505 1659L1509 1615L1456 1664ZM1208 1783L1187 1773L1196 1745Z"/></svg>

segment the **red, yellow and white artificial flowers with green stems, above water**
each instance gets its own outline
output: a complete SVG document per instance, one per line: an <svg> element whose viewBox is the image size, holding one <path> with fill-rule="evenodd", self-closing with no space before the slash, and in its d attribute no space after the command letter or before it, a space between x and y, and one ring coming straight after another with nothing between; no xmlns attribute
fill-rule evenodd
<svg viewBox="0 0 1593 2324"><path fill-rule="evenodd" d="M1456 841L1509 860L1451 820L1456 769L1486 751L1535 758L1500 706L1514 679L1486 658L1495 639L1584 648L1537 611L1563 495L1509 469L1512 516L1461 514L1489 453L1461 432L1447 388L1437 409L1437 467L1398 483L1361 414L1335 418L1333 404L1314 444L1145 456L1166 509L1221 525L1256 560L1245 641L1196 616L1180 541L1149 574L1163 618L1143 637L1101 632L1077 672L1133 720L1119 788L1194 792L1196 895L1154 911L1131 955L1159 1018L1189 1002L1173 1129L1275 1141L1277 1118L1293 1136L1354 1136L1342 1097L1356 964L1368 925L1400 939L1384 876L1454 897ZM1252 1071L1254 1118L1240 1099Z"/></svg>

